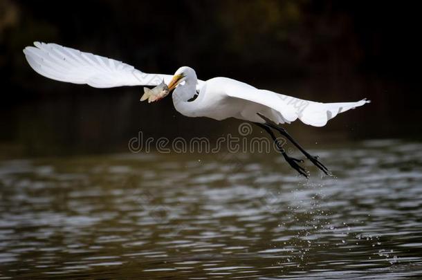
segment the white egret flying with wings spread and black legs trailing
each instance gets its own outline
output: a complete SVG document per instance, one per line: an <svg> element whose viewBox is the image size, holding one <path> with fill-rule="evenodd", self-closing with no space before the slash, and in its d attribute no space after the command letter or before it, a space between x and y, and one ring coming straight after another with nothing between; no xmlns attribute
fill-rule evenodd
<svg viewBox="0 0 422 280"><path fill-rule="evenodd" d="M227 77L199 80L194 69L183 66L174 75L143 73L123 62L57 44L35 42L24 48L30 66L39 74L53 80L73 84L89 84L95 88L116 86L156 86L163 80L173 91L174 108L187 117L208 117L214 120L237 118L257 124L276 144L291 167L308 177L297 158L288 156L277 140L275 131L290 140L315 166L329 174L318 156L312 156L298 144L280 124L297 119L313 127L323 127L338 113L362 106L358 102L321 103L301 100L273 91L255 88Z"/></svg>

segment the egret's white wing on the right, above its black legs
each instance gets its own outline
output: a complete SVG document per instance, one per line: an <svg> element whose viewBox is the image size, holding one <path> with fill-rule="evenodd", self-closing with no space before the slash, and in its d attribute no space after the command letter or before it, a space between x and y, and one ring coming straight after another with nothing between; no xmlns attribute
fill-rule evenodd
<svg viewBox="0 0 422 280"><path fill-rule="evenodd" d="M273 91L254 88L253 86L242 82L235 82L236 83L231 83L231 86L226 91L228 96L248 100L249 102L261 105L261 111L254 113L262 113L267 118L277 123L290 123L299 119L304 122L304 124L309 124L313 127L323 127L339 113L370 102L365 99L358 102L313 102L282 95ZM258 106L258 109L259 107L260 106ZM248 114L249 112L245 111L244 113ZM245 117L254 118L257 121L262 122L262 119L256 118L255 115L245 115Z"/></svg>

